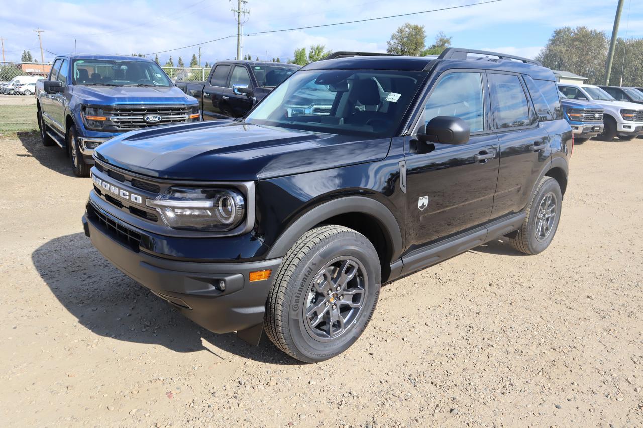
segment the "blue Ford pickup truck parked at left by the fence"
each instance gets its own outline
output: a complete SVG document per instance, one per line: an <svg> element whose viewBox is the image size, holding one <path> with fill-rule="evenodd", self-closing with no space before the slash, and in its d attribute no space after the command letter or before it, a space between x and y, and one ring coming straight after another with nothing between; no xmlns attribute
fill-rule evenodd
<svg viewBox="0 0 643 428"><path fill-rule="evenodd" d="M93 151L134 129L201 120L199 102L156 62L117 55L60 55L36 84L42 144L68 151L73 172L89 175Z"/></svg>

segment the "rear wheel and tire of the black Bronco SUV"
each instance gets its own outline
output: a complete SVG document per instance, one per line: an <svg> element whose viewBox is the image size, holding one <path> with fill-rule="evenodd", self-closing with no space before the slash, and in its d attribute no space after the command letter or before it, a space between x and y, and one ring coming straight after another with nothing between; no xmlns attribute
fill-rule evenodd
<svg viewBox="0 0 643 428"><path fill-rule="evenodd" d="M509 238L521 253L533 255L545 251L556 235L561 215L563 193L552 177L543 177L527 207L527 217L518 233Z"/></svg>

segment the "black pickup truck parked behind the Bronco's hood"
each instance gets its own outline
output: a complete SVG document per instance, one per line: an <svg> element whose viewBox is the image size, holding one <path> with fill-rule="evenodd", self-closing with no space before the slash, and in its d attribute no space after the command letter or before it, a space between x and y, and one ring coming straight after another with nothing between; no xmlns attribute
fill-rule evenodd
<svg viewBox="0 0 643 428"><path fill-rule="evenodd" d="M201 103L203 120L241 118L300 66L282 62L220 61L207 82L176 82Z"/></svg>

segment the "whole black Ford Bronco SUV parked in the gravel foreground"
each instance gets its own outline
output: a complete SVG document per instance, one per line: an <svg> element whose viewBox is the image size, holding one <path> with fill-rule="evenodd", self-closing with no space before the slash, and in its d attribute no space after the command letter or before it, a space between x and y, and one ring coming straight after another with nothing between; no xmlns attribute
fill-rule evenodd
<svg viewBox="0 0 643 428"><path fill-rule="evenodd" d="M291 100L332 96L325 114ZM572 151L534 60L336 53L244 118L115 137L95 152L85 233L213 332L296 359L354 343L380 286L507 236L554 238ZM427 285L429 287L430 285Z"/></svg>

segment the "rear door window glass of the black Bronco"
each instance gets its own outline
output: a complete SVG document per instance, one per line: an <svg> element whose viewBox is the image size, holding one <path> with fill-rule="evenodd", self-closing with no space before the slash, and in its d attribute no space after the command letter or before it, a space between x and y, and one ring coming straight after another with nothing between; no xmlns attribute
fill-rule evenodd
<svg viewBox="0 0 643 428"><path fill-rule="evenodd" d="M529 126L529 102L520 78L490 73L489 84L494 129Z"/></svg>

